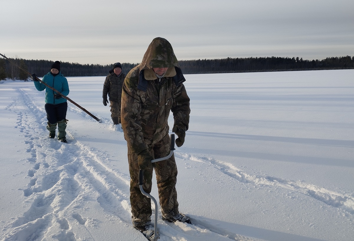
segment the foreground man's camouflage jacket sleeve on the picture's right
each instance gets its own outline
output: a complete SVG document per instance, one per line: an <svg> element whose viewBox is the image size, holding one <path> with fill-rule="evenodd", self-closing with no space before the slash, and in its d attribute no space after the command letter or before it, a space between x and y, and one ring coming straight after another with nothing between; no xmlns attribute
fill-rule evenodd
<svg viewBox="0 0 354 241"><path fill-rule="evenodd" d="M174 119L173 126L177 126L184 131L187 131L189 126L190 99L183 84L178 85L174 89L172 98L173 104L171 107L171 112L173 113Z"/></svg>

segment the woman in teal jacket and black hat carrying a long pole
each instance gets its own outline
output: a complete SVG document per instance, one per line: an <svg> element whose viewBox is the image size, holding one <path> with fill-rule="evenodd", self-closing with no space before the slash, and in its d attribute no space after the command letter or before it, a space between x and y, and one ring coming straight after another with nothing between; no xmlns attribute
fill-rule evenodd
<svg viewBox="0 0 354 241"><path fill-rule="evenodd" d="M39 82L36 76L36 74L32 74L34 86L39 91L45 90L44 107L47 113L47 130L49 131L49 137L55 138L55 131L58 125L58 140L67 143L65 137L65 129L68 122L66 119L68 109L67 100L43 84L46 83L64 96L69 95L68 80L60 72L60 62L55 61L54 64L52 64L50 72L42 78L43 83Z"/></svg>

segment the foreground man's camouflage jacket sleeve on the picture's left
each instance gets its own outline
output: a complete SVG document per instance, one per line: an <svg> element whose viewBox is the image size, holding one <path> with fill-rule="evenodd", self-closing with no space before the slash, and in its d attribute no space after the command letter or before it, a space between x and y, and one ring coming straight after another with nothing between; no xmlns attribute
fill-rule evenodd
<svg viewBox="0 0 354 241"><path fill-rule="evenodd" d="M128 81L127 81L128 80ZM121 97L121 122L124 138L130 151L133 153L147 149L141 128L141 99L136 86L129 84L126 78L122 88Z"/></svg>

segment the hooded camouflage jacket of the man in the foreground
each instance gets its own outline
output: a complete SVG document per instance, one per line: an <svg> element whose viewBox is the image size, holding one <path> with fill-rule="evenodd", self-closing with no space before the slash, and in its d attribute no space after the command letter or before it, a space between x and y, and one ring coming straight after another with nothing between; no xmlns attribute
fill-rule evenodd
<svg viewBox="0 0 354 241"><path fill-rule="evenodd" d="M145 53L143 62L127 74L122 89L122 128L124 138L132 152L150 148L168 134L167 121L170 111L173 113L174 126L187 131L189 124L189 97L183 85L185 78L177 65L172 47L172 53L167 51L169 59L165 58L170 62L167 66L158 63L165 60L154 61L154 58L161 57L158 51L147 55L151 48L154 48L152 46L154 40ZM162 40L162 44L166 44L167 40ZM164 51L166 52L166 48ZM169 67L161 79L156 77L152 70L156 63L162 67Z"/></svg>

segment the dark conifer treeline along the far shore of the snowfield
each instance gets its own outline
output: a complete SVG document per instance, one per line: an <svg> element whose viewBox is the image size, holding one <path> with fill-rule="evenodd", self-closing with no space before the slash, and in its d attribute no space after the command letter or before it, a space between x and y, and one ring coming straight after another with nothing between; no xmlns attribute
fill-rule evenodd
<svg viewBox="0 0 354 241"><path fill-rule="evenodd" d="M11 59L11 58L9 58ZM30 73L44 76L50 71L54 61L11 59ZM198 59L178 61L184 74L204 73L236 73L236 72L268 72L295 70L333 70L353 69L354 56L331 57L323 60L303 60L302 58L256 57L256 58L227 58L227 59ZM122 63L122 72L128 73L137 64ZM70 76L107 76L112 65L83 65L78 63L61 63L61 72ZM27 79L28 74L0 58L0 79Z"/></svg>

